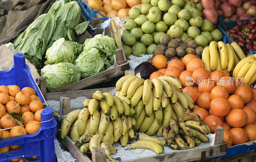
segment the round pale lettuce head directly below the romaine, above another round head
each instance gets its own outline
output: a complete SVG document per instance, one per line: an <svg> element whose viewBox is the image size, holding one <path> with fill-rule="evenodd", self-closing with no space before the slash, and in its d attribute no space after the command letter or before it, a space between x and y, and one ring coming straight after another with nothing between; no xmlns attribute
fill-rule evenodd
<svg viewBox="0 0 256 162"><path fill-rule="evenodd" d="M58 39L46 50L45 58L47 61L45 65L59 62L73 63L74 50L76 50L76 48L70 42L65 41L64 38Z"/></svg>

